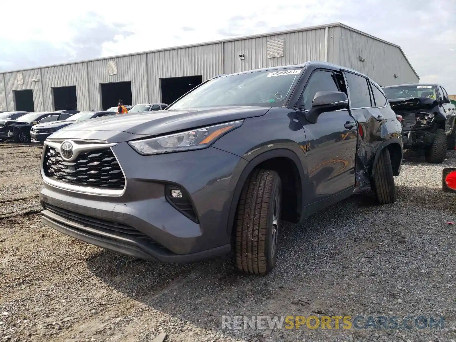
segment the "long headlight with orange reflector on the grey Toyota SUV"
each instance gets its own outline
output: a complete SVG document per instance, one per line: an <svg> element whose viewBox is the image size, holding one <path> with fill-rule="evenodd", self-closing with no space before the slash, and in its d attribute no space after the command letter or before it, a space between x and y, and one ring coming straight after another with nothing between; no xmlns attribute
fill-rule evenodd
<svg viewBox="0 0 456 342"><path fill-rule="evenodd" d="M142 155L200 150L212 145L218 138L241 126L243 120L162 135L156 138L130 141L129 144Z"/></svg>

